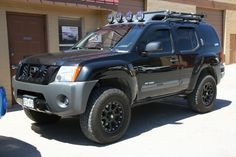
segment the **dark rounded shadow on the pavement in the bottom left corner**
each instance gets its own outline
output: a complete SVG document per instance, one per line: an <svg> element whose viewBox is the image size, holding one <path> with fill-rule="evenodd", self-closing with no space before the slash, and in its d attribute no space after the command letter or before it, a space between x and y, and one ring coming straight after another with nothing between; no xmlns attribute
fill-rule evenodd
<svg viewBox="0 0 236 157"><path fill-rule="evenodd" d="M0 136L1 157L41 157L34 146L12 137Z"/></svg>

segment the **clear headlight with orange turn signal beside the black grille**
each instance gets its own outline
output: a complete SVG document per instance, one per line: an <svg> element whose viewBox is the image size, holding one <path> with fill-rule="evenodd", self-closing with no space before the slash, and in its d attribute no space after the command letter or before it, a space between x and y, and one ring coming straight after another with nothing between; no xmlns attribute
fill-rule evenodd
<svg viewBox="0 0 236 157"><path fill-rule="evenodd" d="M62 66L57 73L55 81L74 82L79 75L80 69L80 66Z"/></svg>

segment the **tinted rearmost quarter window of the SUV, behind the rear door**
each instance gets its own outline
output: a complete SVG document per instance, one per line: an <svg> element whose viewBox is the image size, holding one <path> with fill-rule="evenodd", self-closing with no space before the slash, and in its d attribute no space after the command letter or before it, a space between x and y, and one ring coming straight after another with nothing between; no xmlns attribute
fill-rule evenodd
<svg viewBox="0 0 236 157"><path fill-rule="evenodd" d="M220 40L216 31L212 27L200 25L199 30L201 34L201 40L203 40L202 42L205 47L220 47Z"/></svg>

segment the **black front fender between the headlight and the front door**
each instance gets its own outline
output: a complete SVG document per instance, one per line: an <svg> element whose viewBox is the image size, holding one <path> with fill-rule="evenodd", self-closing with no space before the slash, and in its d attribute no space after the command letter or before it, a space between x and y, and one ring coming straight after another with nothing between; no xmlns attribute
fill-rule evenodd
<svg viewBox="0 0 236 157"><path fill-rule="evenodd" d="M107 60L83 66L77 81L118 79L131 91L132 100L138 92L136 72L133 65L123 60Z"/></svg>

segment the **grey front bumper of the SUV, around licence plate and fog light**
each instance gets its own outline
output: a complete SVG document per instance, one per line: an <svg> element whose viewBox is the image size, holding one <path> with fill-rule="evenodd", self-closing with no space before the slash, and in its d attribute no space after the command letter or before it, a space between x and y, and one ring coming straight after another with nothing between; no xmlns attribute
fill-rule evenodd
<svg viewBox="0 0 236 157"><path fill-rule="evenodd" d="M15 77L12 78L14 97L18 104L23 105L24 94L36 95L36 97L42 95L46 109L37 107L31 109L59 116L73 116L84 113L89 95L96 83L95 80L87 82L52 82L48 85L39 85L17 81ZM60 106L59 97L61 95L68 98L67 107Z"/></svg>

